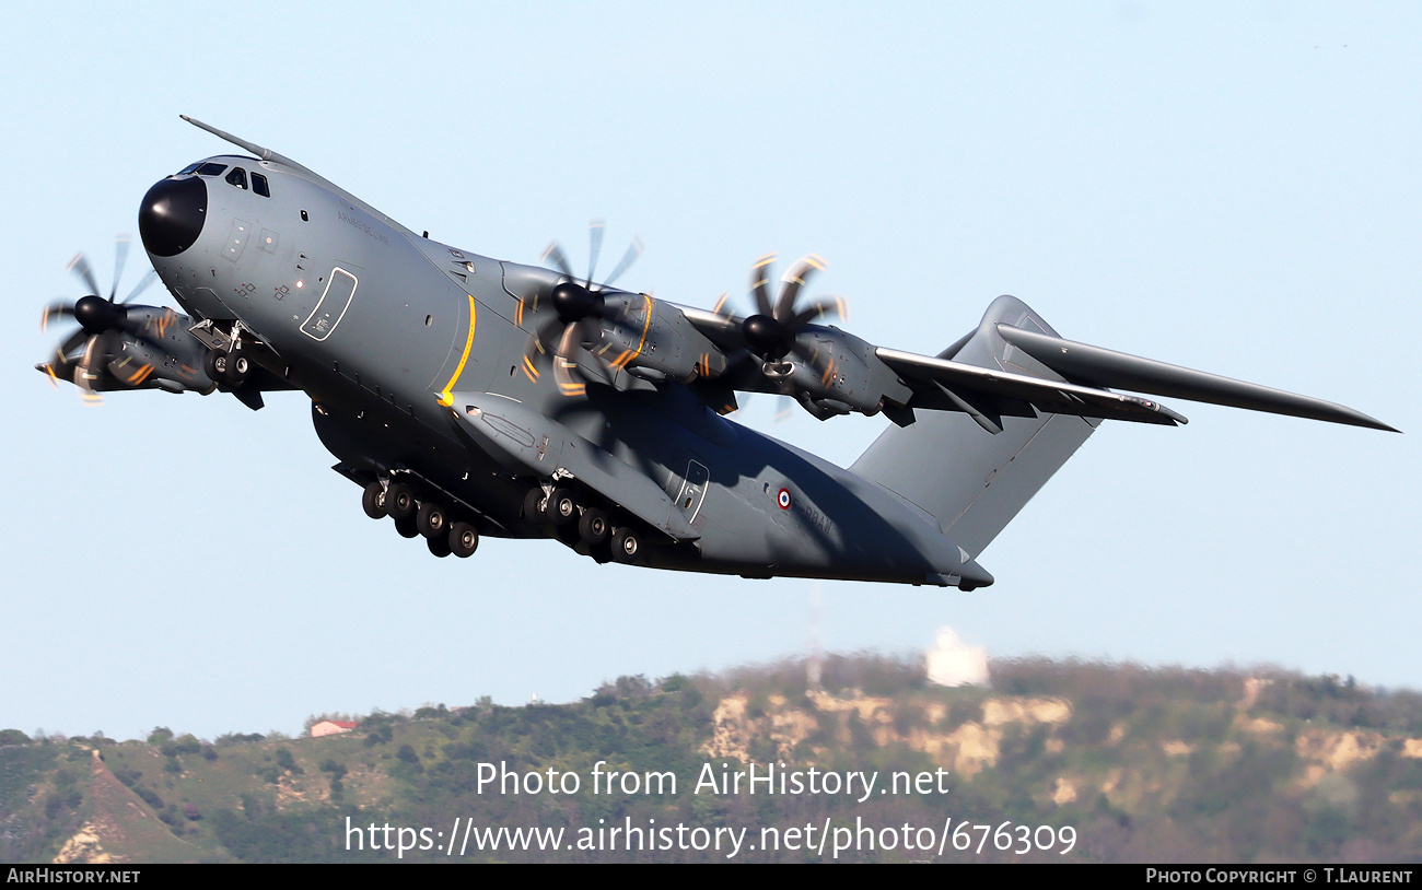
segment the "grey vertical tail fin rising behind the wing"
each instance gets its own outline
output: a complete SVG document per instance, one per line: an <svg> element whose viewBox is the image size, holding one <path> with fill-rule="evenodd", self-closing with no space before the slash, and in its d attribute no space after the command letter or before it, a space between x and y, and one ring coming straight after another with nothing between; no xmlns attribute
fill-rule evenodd
<svg viewBox="0 0 1422 890"><path fill-rule="evenodd" d="M1007 343L998 323L1057 337L1025 303L998 297L977 330L940 358L1064 380ZM931 513L947 539L975 557L1099 424L1062 414L1003 417L993 435L995 424L985 428L970 414L920 411L914 424L886 429L850 469Z"/></svg>

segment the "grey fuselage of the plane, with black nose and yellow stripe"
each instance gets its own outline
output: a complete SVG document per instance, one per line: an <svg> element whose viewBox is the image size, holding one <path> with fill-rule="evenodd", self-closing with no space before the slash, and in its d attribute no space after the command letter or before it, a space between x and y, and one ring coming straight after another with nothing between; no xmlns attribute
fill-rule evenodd
<svg viewBox="0 0 1422 890"><path fill-rule="evenodd" d="M188 206L199 183L201 213ZM412 473L476 512L485 535L542 536L520 515L540 479L471 441L468 392L553 418L616 472L660 486L695 537L648 552L654 566L914 584L981 573L930 515L720 417L687 387L624 380L569 397L552 374L525 372L552 310L520 306L565 280L556 272L429 240L304 171L249 156L159 182L141 227L188 314L250 333L263 347L255 360L310 395L348 475Z"/></svg>

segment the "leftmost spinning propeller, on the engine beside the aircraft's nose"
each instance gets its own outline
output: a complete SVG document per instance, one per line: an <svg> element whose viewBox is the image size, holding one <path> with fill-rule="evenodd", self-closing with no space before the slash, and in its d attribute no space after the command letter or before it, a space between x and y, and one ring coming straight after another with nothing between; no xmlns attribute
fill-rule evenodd
<svg viewBox="0 0 1422 890"><path fill-rule="evenodd" d="M127 235L119 235L115 240L114 283L109 287L107 299L100 296L98 279L94 277L94 269L90 266L88 259L82 253L75 253L74 259L70 260L68 269L90 293L73 303L54 301L40 316L41 331L48 330L50 320L53 318L67 316L78 321L78 330L60 343L55 357L38 367L48 374L51 384L60 378L60 372L67 380L73 380L80 387L84 401L90 404L102 401L94 391L94 381L98 380L108 361L122 351L122 343L117 341L114 337L115 333L124 333L151 345L162 347L162 343L148 333L146 320L129 318L127 309L129 301L158 280L158 273L149 270L128 296L117 300L118 283L122 279L124 263L128 259L128 242ZM84 351L80 353L77 360L71 361L70 354L81 344L84 345ZM125 382L138 385L142 382L139 377L146 380L146 374L139 371Z"/></svg>

